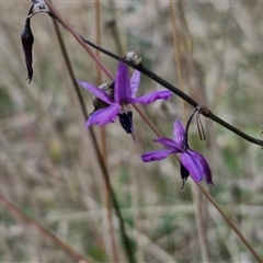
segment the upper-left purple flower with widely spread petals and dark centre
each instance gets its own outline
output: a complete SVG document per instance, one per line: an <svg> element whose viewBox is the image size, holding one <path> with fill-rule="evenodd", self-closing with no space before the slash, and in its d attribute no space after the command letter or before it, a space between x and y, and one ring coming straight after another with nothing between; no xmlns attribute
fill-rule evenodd
<svg viewBox="0 0 263 263"><path fill-rule="evenodd" d="M105 125L110 122L114 122L116 116L118 116L121 125L126 130L127 134L134 133L133 127L133 112L129 108L129 104L140 103L149 104L156 100L168 100L172 92L169 90L155 91L147 95L136 98L136 93L140 84L140 72L135 70L134 75L129 79L128 68L125 64L119 62L116 78L114 81L114 100L108 96L108 94L99 89L98 87L87 83L81 80L77 80L85 90L90 91L100 100L107 103L110 106L98 110L91 114L87 122L87 127L92 124L98 124L100 126Z"/></svg>

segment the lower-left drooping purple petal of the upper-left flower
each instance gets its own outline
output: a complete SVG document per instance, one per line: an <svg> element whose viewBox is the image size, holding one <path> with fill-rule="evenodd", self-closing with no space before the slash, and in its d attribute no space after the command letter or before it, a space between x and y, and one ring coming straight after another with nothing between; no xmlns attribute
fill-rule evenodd
<svg viewBox="0 0 263 263"><path fill-rule="evenodd" d="M98 124L103 126L110 122L115 121L115 117L119 113L119 105L113 104L108 107L95 111L88 119L85 127L90 127L91 124Z"/></svg>

